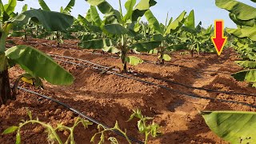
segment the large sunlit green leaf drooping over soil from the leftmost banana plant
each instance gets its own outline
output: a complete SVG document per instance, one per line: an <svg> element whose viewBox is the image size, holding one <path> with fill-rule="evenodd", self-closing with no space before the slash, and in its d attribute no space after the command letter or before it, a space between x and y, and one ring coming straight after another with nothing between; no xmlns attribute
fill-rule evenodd
<svg viewBox="0 0 256 144"><path fill-rule="evenodd" d="M14 46L6 50L6 56L18 63L34 77L45 79L54 85L70 85L73 76L59 66L52 58L31 46Z"/></svg>

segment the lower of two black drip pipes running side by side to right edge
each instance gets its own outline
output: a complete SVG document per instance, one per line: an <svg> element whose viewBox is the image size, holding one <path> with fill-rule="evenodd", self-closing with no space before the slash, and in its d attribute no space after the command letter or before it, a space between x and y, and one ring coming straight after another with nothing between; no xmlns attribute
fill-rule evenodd
<svg viewBox="0 0 256 144"><path fill-rule="evenodd" d="M55 60L58 60L58 61L61 61L61 62L66 62L66 63L70 63L70 64L73 64L75 66L82 66L82 67L90 67L90 66L86 66L86 65L83 65L83 64L78 64L78 63L75 63L75 62L67 62L65 60L62 60L62 59L58 59L58 58L54 58ZM98 68L98 67L91 67L93 68L94 70L103 70L101 68ZM115 72L112 72L112 71L106 71L106 73L108 74L114 74L114 75L117 75L119 77L122 77L122 78L129 78L129 79L132 79L134 81L138 81L138 82L142 82L142 83L146 83L146 84L149 84L149 85L152 85L152 86L158 86L162 89L165 89L165 90L170 90L176 94L182 94L182 95L185 95L187 97L190 97L190 98L202 98L202 99L207 99L207 100L211 100L211 101L218 101L218 102L228 102L228 103L235 103L235 104L241 104L241 105L244 105L244 106L250 106L250 107L253 107L253 108L256 108L256 106L254 105L251 105L251 104L248 104L246 102L237 102L237 101L232 101L232 100L226 100L226 99L219 99L219 98L210 98L210 97L203 97L203 96L200 96L198 94L188 94L188 93L184 93L180 90L174 90L174 89L171 89L167 86L163 86L163 85L159 85L157 83L154 83L154 82L148 82L148 81L145 81L145 80L142 80L142 79L139 79L139 78L134 78L134 77L130 77L130 76L127 76L127 75L123 75L123 74L118 74L118 73L115 73Z"/></svg>

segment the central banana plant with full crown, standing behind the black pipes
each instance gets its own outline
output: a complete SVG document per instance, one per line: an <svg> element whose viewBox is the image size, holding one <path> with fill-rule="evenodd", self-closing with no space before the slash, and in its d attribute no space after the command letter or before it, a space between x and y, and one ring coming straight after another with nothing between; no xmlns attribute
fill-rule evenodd
<svg viewBox="0 0 256 144"><path fill-rule="evenodd" d="M127 0L125 3L126 14L123 14L122 3L119 0L119 10L114 10L112 6L105 0L87 0L90 4L91 20L100 30L106 35L106 38L91 39L78 43L78 46L84 49L102 49L115 47L120 51L122 60L122 72L127 72L127 62L131 65L138 65L143 61L134 56L128 56L128 52L134 49L145 50L146 47L154 49L159 46L158 42L138 42L134 43L136 32L134 25L138 22L138 18L142 17L146 10L154 6L157 2L154 0L141 0L136 5L136 0ZM96 7L104 14L104 19L101 21ZM87 14L88 15L88 14ZM90 26L90 27L95 27Z"/></svg>

